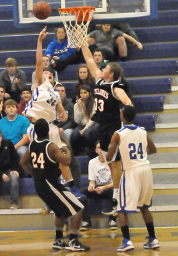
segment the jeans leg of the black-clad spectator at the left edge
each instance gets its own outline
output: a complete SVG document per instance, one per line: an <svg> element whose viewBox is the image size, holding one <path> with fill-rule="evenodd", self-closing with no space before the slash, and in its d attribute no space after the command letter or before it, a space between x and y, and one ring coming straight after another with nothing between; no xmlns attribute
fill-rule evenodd
<svg viewBox="0 0 178 256"><path fill-rule="evenodd" d="M15 203L18 205L19 196L19 177L14 173L10 174L11 169L6 171L6 175L10 178L10 204Z"/></svg>

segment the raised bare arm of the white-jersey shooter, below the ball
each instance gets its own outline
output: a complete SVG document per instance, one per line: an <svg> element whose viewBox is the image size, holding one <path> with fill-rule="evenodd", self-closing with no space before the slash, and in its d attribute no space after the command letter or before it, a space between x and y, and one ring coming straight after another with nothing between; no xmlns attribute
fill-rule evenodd
<svg viewBox="0 0 178 256"><path fill-rule="evenodd" d="M33 89L37 88L41 83L44 82L44 78L42 77L43 66L42 66L42 40L46 38L46 26L41 30L38 36L38 43L36 48L36 70L34 77L34 85Z"/></svg>

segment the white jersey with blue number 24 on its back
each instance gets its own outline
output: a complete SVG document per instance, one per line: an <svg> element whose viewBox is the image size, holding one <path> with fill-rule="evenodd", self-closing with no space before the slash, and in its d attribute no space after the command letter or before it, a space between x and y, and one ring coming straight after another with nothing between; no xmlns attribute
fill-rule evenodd
<svg viewBox="0 0 178 256"><path fill-rule="evenodd" d="M123 171L145 164L147 160L147 132L144 127L127 125L117 130L119 140L119 151Z"/></svg>

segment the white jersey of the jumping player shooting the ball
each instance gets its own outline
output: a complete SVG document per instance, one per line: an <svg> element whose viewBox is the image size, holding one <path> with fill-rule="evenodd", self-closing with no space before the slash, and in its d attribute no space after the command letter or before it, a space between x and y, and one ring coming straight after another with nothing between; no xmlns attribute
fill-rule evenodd
<svg viewBox="0 0 178 256"><path fill-rule="evenodd" d="M52 122L56 118L55 108L57 103L60 102L60 96L49 80L44 79L44 83L34 90L32 85L32 99L26 104L23 113L25 116L34 117L36 120L44 118L47 122Z"/></svg>

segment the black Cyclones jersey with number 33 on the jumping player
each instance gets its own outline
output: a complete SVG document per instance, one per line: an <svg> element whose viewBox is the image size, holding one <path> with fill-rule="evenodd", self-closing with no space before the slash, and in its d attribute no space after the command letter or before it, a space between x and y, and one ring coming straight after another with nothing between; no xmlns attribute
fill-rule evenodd
<svg viewBox="0 0 178 256"><path fill-rule="evenodd" d="M114 88L125 90L125 86L119 83L119 80L107 83L100 78L96 82L94 89L95 96L95 114L92 120L99 123L121 122L119 115L119 106L121 101L115 96Z"/></svg>

